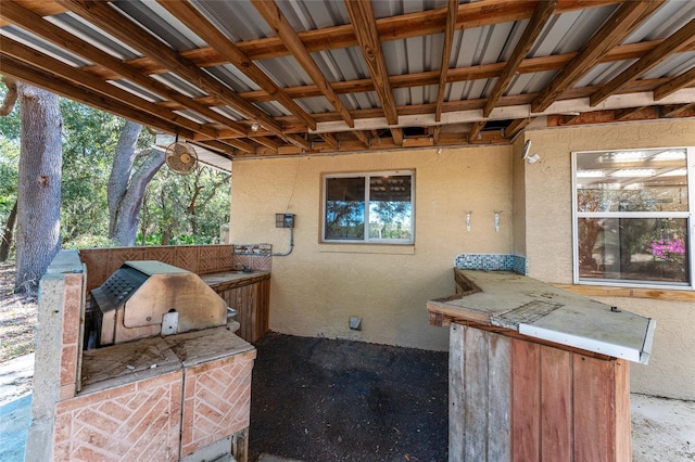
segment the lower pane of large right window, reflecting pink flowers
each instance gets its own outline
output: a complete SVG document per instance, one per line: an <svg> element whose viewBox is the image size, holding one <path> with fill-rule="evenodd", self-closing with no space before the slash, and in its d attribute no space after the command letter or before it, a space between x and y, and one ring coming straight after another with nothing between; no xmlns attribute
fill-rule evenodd
<svg viewBox="0 0 695 462"><path fill-rule="evenodd" d="M580 279L690 281L687 219L580 218Z"/></svg>

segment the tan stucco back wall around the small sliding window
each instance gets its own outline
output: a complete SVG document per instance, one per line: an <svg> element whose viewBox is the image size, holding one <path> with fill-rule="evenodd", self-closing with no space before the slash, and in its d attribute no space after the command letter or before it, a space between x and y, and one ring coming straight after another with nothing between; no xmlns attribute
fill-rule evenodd
<svg viewBox="0 0 695 462"><path fill-rule="evenodd" d="M320 244L321 174L394 169L415 170L415 245ZM271 330L445 350L448 330L429 325L426 301L453 294L457 254L510 253L511 147L235 162L231 242L285 252L289 231L275 228L276 213L296 222L294 251L273 260ZM349 329L351 316L362 331Z"/></svg>

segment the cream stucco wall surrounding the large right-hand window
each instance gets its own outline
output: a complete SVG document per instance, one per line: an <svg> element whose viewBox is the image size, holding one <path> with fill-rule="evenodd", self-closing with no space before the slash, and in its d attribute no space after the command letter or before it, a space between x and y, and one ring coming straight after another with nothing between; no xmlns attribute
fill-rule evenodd
<svg viewBox="0 0 695 462"><path fill-rule="evenodd" d="M526 183L526 255L529 275L546 282L572 282L572 151L695 145L695 120L528 130L533 165L515 161L515 182ZM516 158L516 157L515 157ZM515 189L515 193L517 189ZM515 198L515 204L520 200ZM657 322L648 365L631 364L636 393L695 399L695 304L645 298L602 301L654 318Z"/></svg>

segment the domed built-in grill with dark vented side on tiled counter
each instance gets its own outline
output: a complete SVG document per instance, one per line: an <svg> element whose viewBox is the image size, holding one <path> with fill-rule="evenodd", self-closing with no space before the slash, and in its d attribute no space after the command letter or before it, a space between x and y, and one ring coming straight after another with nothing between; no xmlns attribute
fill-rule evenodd
<svg viewBox="0 0 695 462"><path fill-rule="evenodd" d="M91 301L88 349L227 323L227 304L198 274L155 260L126 261Z"/></svg>

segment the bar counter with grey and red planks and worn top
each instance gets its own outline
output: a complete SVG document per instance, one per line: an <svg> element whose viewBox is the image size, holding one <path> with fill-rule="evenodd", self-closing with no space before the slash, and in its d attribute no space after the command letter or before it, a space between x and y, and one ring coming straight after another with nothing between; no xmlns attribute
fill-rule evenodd
<svg viewBox="0 0 695 462"><path fill-rule="evenodd" d="M455 270L450 461L631 460L630 371L653 320L506 271Z"/></svg>

